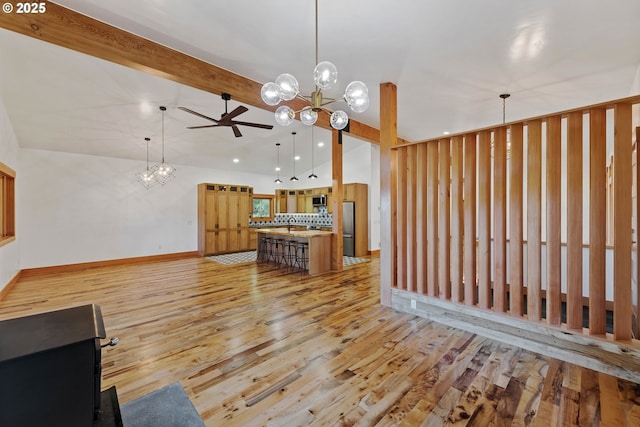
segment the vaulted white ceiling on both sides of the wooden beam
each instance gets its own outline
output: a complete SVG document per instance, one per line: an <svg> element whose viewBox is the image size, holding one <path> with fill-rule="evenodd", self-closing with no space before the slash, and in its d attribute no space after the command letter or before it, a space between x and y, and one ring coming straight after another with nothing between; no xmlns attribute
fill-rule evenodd
<svg viewBox="0 0 640 427"><path fill-rule="evenodd" d="M252 80L289 72L303 93L313 90L313 0L56 3ZM319 59L337 66L339 90L367 84L369 110L350 115L376 128L379 84L395 83L398 135L415 141L500 123L504 92L507 121L640 93L639 18L637 0L319 0ZM208 123L177 106L218 118L224 101L7 30L0 53L0 96L23 147L144 161L149 136L157 160L166 105L171 163L272 174L275 143L287 158L295 130L300 170L310 167L311 136L299 122L282 128L248 106L238 119L274 129L241 127L242 138L230 128L187 130ZM330 142L328 131L315 134ZM345 149L363 143L346 140ZM317 163L330 159L329 145Z"/></svg>

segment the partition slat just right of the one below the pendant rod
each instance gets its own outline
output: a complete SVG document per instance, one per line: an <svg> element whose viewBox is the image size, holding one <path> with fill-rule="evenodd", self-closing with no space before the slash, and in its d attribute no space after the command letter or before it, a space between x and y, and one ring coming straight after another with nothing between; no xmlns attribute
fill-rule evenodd
<svg viewBox="0 0 640 427"><path fill-rule="evenodd" d="M522 265L522 124L511 125L509 169L509 309L512 316L524 313Z"/></svg>

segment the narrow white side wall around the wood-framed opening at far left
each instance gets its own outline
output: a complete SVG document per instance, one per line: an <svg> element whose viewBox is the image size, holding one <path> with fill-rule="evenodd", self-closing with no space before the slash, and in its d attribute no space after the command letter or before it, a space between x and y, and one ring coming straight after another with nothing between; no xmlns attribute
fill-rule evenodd
<svg viewBox="0 0 640 427"><path fill-rule="evenodd" d="M22 179L18 163L18 141L7 116L2 100L0 100L0 162L16 172L16 183ZM16 189L16 198L20 196ZM19 210L16 207L16 240L0 247L0 290L2 290L20 271L20 233Z"/></svg>

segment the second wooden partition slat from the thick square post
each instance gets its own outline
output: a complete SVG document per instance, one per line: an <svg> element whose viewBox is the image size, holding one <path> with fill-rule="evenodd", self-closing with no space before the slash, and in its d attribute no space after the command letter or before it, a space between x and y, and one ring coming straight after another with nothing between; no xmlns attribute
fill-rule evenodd
<svg viewBox="0 0 640 427"><path fill-rule="evenodd" d="M416 290L416 186L417 186L417 147L410 145L407 147L407 282L406 289L415 292Z"/></svg>

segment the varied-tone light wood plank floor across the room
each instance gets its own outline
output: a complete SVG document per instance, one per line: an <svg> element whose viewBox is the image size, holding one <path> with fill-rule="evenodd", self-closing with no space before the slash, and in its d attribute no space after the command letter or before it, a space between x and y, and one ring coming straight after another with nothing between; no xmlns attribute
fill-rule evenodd
<svg viewBox="0 0 640 427"><path fill-rule="evenodd" d="M95 303L120 403L180 381L209 426L639 426L640 386L379 304L379 264L202 258L23 277L0 319Z"/></svg>

